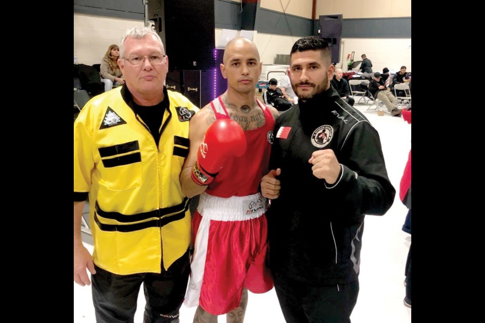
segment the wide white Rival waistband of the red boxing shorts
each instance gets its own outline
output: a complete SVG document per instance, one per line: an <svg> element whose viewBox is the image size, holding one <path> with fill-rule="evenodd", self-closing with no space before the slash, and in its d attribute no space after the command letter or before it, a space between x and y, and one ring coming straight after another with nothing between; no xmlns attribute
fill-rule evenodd
<svg viewBox="0 0 485 323"><path fill-rule="evenodd" d="M197 210L216 221L244 221L261 217L268 209L267 200L256 193L247 196L218 197L203 192Z"/></svg>

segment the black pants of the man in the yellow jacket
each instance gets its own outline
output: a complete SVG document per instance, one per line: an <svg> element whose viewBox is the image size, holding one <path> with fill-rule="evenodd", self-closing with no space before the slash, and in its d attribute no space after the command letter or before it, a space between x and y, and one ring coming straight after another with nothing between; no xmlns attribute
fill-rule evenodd
<svg viewBox="0 0 485 323"><path fill-rule="evenodd" d="M133 322L141 283L147 305L143 323L178 322L190 272L188 250L161 274L116 275L94 265L92 301L98 323Z"/></svg>

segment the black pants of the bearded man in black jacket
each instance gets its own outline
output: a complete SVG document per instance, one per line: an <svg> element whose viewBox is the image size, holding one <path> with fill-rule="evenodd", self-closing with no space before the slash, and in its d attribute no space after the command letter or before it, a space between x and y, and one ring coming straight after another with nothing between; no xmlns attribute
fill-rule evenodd
<svg viewBox="0 0 485 323"><path fill-rule="evenodd" d="M273 274L276 296L287 323L350 323L359 280L318 286Z"/></svg>

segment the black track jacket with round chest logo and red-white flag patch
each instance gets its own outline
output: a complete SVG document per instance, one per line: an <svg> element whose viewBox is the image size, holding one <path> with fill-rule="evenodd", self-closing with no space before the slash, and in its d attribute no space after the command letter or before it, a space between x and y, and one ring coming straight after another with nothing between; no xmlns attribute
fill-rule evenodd
<svg viewBox="0 0 485 323"><path fill-rule="evenodd" d="M281 168L281 190L266 213L271 270L319 285L355 281L364 214L381 216L396 194L377 131L330 87L281 114L274 134L270 169ZM332 186L312 174L318 149L341 164Z"/></svg>

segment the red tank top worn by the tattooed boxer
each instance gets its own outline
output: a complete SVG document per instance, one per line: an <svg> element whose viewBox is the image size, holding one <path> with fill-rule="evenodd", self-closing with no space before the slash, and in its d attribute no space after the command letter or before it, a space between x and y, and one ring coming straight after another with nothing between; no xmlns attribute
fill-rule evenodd
<svg viewBox="0 0 485 323"><path fill-rule="evenodd" d="M246 196L259 191L261 178L268 173L269 154L273 144L274 118L269 107L256 99L263 110L263 127L244 132L247 150L244 156L229 158L206 192L219 197ZM219 96L211 102L216 119L229 119Z"/></svg>

